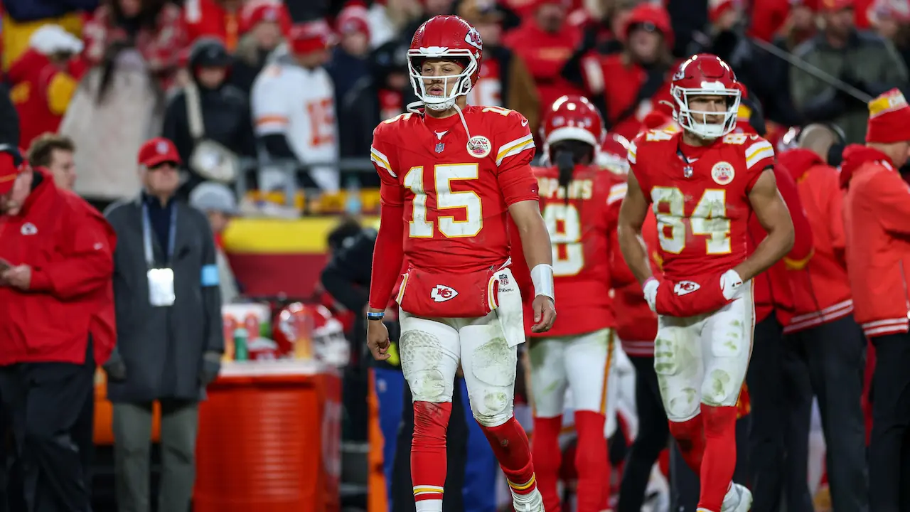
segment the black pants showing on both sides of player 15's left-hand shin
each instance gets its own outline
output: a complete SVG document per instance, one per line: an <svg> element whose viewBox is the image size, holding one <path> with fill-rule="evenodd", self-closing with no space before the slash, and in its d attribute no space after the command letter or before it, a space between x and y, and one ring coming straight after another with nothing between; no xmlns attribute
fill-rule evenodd
<svg viewBox="0 0 910 512"><path fill-rule="evenodd" d="M414 512L414 484L410 479L410 442L414 436L414 397L410 386L404 384L404 407L401 409L401 428L395 446L395 462L392 466L392 509L391 512ZM471 419L471 421L473 421ZM442 512L462 512L464 500L464 466L468 459L468 418L464 413L461 386L455 383L452 394L452 414L449 431L446 434L446 483L442 492Z"/></svg>

